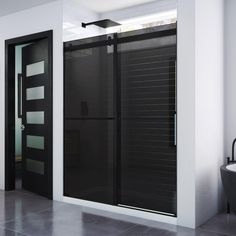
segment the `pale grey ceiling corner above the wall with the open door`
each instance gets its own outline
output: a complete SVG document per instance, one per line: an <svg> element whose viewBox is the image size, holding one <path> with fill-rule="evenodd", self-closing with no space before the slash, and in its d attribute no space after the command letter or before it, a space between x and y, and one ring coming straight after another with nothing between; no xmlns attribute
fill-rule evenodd
<svg viewBox="0 0 236 236"><path fill-rule="evenodd" d="M22 11L54 0L0 0L0 16Z"/></svg>

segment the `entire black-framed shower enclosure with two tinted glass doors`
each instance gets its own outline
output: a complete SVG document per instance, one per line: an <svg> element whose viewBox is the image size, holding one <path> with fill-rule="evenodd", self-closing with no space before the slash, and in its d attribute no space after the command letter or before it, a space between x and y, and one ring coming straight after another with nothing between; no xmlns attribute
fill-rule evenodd
<svg viewBox="0 0 236 236"><path fill-rule="evenodd" d="M176 216L176 24L64 56L64 195Z"/></svg>

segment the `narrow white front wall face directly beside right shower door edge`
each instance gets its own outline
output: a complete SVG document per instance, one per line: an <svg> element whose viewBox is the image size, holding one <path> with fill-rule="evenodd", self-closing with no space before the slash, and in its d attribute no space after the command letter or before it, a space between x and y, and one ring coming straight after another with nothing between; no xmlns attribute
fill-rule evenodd
<svg viewBox="0 0 236 236"><path fill-rule="evenodd" d="M195 20L195 1L178 0L177 210L186 227L195 227Z"/></svg>

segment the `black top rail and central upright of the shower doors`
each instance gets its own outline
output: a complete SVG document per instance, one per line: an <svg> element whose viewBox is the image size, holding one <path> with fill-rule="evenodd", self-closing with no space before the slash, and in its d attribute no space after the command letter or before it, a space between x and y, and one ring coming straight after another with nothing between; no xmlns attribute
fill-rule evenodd
<svg viewBox="0 0 236 236"><path fill-rule="evenodd" d="M114 160L114 205L119 205L120 202L120 172L121 172L121 101L120 101L120 94L121 94L121 83L120 83L120 59L118 55L118 45L122 43L129 43L134 41L142 41L142 40L148 40L152 38L159 38L159 37L165 37L165 36L171 36L177 34L177 26L176 24L167 25L164 27L160 27L160 30L138 34L138 35L128 35L124 37L118 37L119 34L114 33L113 38L108 37L107 40L101 40L97 42L91 42L91 43L84 43L84 44L78 44L78 45L70 45L66 47L66 43L64 43L64 62L65 62L65 53L68 51L74 51L74 50L82 50L82 49L89 49L89 48L95 48L95 47L101 47L106 45L113 45L114 46L114 55L113 55L113 61L114 61L114 106L115 106L115 126L116 130L114 131L115 137L115 160ZM110 34L111 35L111 34ZM67 42L68 43L68 42ZM65 67L65 64L64 64ZM65 71L65 70L64 70ZM177 86L177 81L176 81ZM64 107L65 107L65 74L64 74ZM177 104L177 96L176 96L176 104ZM176 109L177 110L177 109ZM65 127L65 108L64 108L64 127ZM177 131L177 129L176 129ZM65 146L65 129L63 128L63 137L64 137L64 146ZM177 137L177 133L176 133ZM176 146L177 148L177 146ZM63 153L64 156L64 172L65 172L65 152ZM63 180L63 186L65 186L65 179ZM143 211L147 211L143 209ZM150 211L147 211L150 212ZM161 214L161 213L159 213ZM166 215L166 214L162 214Z"/></svg>

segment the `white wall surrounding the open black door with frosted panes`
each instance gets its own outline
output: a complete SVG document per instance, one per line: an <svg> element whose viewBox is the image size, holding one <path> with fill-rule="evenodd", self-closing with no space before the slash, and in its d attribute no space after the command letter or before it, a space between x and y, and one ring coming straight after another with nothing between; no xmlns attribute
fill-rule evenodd
<svg viewBox="0 0 236 236"><path fill-rule="evenodd" d="M53 14L52 14L53 12ZM42 17L43 16L43 17ZM62 2L55 1L0 18L0 188L4 189L4 103L5 40L53 30L53 192L62 199L63 191L63 44Z"/></svg>

